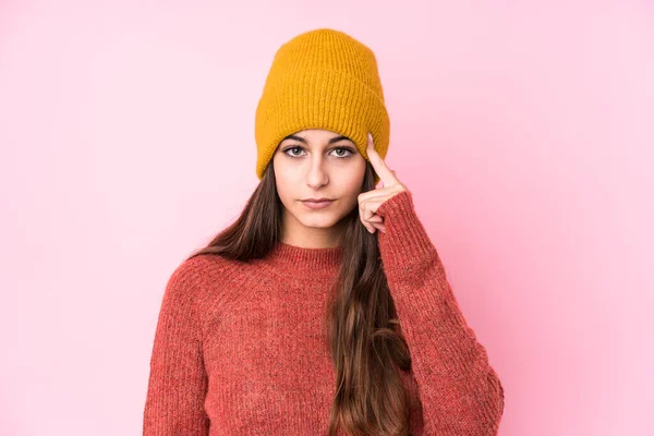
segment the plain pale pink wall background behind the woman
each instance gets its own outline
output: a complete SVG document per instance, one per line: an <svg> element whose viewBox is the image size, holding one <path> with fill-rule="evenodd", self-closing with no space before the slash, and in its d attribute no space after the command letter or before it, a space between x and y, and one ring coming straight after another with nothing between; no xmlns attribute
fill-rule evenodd
<svg viewBox="0 0 654 436"><path fill-rule="evenodd" d="M0 4L0 434L141 434L164 286L258 183L275 50L322 26L377 55L500 434L654 434L652 3Z"/></svg>

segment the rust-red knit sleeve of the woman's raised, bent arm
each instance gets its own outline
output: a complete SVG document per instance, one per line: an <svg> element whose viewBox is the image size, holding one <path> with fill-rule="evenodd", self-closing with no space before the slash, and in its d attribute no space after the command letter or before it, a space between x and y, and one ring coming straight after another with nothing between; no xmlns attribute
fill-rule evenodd
<svg viewBox="0 0 654 436"><path fill-rule="evenodd" d="M497 435L504 388L461 313L409 191L377 208L387 282L412 358L425 435Z"/></svg>

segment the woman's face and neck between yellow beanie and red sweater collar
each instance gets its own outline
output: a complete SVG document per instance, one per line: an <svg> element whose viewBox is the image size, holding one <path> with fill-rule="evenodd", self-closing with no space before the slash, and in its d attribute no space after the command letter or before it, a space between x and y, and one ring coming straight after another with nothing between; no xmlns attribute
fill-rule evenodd
<svg viewBox="0 0 654 436"><path fill-rule="evenodd" d="M284 242L335 246L341 219L359 206L366 161L354 143L331 131L303 130L287 136L272 156L277 192L284 206ZM324 207L307 199L329 198Z"/></svg>

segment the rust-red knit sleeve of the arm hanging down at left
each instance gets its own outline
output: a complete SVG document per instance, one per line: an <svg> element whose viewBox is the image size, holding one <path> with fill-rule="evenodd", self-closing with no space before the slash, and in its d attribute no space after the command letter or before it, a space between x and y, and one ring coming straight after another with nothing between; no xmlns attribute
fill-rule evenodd
<svg viewBox="0 0 654 436"><path fill-rule="evenodd" d="M150 358L144 436L208 435L207 374L193 265L193 259L182 263L164 292Z"/></svg>

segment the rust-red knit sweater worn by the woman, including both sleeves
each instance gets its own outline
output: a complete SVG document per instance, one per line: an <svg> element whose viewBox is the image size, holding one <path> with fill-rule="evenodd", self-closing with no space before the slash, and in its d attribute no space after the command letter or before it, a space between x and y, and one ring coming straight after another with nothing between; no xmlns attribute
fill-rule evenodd
<svg viewBox="0 0 654 436"><path fill-rule="evenodd" d="M412 358L413 435L497 435L504 389L457 304L409 191L377 209L382 263ZM341 247L203 254L162 298L144 436L326 435L336 374L323 331ZM339 427L339 434L343 435Z"/></svg>

